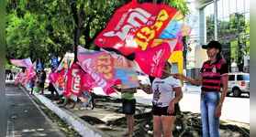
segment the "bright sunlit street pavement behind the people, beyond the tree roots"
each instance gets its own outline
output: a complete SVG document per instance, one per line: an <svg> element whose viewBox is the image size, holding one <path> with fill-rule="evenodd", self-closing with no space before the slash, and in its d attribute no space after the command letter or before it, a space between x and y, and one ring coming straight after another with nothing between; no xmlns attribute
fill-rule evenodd
<svg viewBox="0 0 256 137"><path fill-rule="evenodd" d="M182 111L200 113L200 89L201 87L197 86L187 86L187 90L184 91L184 98L179 103ZM95 88L95 93L105 95L100 88ZM110 96L120 98L121 95L111 94ZM138 90L135 98L139 103L151 105L152 94L149 95ZM250 123L250 97L247 95L240 98L226 97L220 119Z"/></svg>

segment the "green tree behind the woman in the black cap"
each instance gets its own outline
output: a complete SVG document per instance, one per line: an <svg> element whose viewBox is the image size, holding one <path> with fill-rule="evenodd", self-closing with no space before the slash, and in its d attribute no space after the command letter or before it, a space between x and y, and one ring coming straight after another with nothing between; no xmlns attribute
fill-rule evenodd
<svg viewBox="0 0 256 137"><path fill-rule="evenodd" d="M206 41L214 37L214 16L206 16ZM223 45L223 55L230 62L236 62L239 71L243 68L244 55L250 54L250 21L245 24L245 16L235 13L229 21L217 21L218 41Z"/></svg>

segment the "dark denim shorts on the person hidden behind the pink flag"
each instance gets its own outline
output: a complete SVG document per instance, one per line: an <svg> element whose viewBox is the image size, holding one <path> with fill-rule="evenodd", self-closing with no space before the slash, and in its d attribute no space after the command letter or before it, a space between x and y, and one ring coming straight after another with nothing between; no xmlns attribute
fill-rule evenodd
<svg viewBox="0 0 256 137"><path fill-rule="evenodd" d="M122 112L127 115L135 114L136 111L136 100L122 99Z"/></svg>

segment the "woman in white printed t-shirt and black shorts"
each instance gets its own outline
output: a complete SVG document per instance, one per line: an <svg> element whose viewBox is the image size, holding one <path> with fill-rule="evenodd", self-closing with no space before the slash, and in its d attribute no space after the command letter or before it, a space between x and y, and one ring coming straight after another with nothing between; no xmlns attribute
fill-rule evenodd
<svg viewBox="0 0 256 137"><path fill-rule="evenodd" d="M164 70L171 72L172 65L167 62ZM180 81L174 79L165 71L162 72L161 79L154 79L152 87L148 89L141 83L140 88L148 94L153 93L153 132L154 137L173 137L173 122L176 119L178 109L177 102L183 98L183 91ZM176 94L176 96L174 96Z"/></svg>

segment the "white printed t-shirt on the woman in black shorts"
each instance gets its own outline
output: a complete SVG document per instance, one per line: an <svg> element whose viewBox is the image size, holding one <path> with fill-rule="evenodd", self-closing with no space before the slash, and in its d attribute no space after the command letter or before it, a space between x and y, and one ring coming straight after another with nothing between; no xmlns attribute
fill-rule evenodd
<svg viewBox="0 0 256 137"><path fill-rule="evenodd" d="M166 79L156 78L152 83L153 104L158 107L167 107L171 100L174 99L173 88L181 87L179 79L170 76Z"/></svg>

